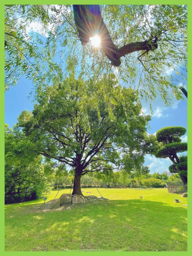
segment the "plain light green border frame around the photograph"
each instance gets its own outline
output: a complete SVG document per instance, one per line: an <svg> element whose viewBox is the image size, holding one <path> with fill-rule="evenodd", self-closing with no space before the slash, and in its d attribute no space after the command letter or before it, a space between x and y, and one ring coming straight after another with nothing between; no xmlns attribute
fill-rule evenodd
<svg viewBox="0 0 192 256"><path fill-rule="evenodd" d="M1 82L2 84L4 83L4 62L3 62L3 59L4 59L4 5L5 4L44 4L44 5L47 5L47 4L53 4L53 2L57 3L57 4L153 4L153 5L159 5L159 4L173 4L173 5L178 5L178 4L185 4L188 6L188 38L189 38L189 41L192 41L192 1L191 0L168 0L168 1L165 1L165 0L147 0L147 1L142 1L142 0L130 0L130 1L125 1L125 0L98 0L98 1L90 1L90 0L82 0L82 1L77 1L77 0L56 0L56 1L50 1L50 0L39 0L39 1L35 1L35 0L26 0L26 1L14 1L14 0L2 0L1 4L0 4L0 35L1 35L1 39L0 39L0 56L1 56L1 62L0 62L0 74L1 74ZM190 44L189 44L189 47L188 47L188 67L189 67L189 70L192 70L192 47L190 47ZM192 72L189 72L189 75L188 75L188 81L191 81L192 80ZM190 86L188 86L187 88L188 90L188 105L187 105L187 110L188 110L188 113L187 113L187 129L189 132L187 132L187 136L188 136L188 157L190 159L190 157L192 157L192 142L191 142L191 137L192 137L192 134L190 133L190 128L192 128L192 119L190 119L191 115L190 115L190 110L192 109L192 102L191 102L191 96L192 95L192 88ZM1 226L0 226L0 251L1 253L3 253L3 255L32 255L32 254L38 254L40 255L42 252L20 252L20 251L17 251L17 252L9 252L9 251L4 251L4 86L1 85L1 90L0 90L0 109L1 109L1 112L0 112L0 115L1 115L1 123L0 123L0 160L1 160L1 179L0 179L0 189L1 189L1 196L0 196L0 205L1 205L1 211L0 211L0 216L1 216ZM192 169L192 163L190 161L188 161L188 169L191 170ZM189 172L188 174L188 180L189 180L189 184L191 184L191 180L192 180L192 172ZM169 254L169 255L189 255L190 252L192 253L192 219L191 219L191 216L192 216L192 205L191 205L191 187L188 188L189 189L189 198L188 198L188 216L189 216L189 219L188 219L188 250L187 252L186 251L171 251L171 252L155 252L157 253L158 255L163 255L164 253L165 254ZM123 238L123 234L122 234L122 238ZM46 252L46 255L49 254L49 255L58 255L61 253L66 253L66 252ZM75 251L69 251L67 252L67 255L96 255L96 254L99 254L99 255L111 255L111 254L117 254L118 252L116 251L78 251L78 252L75 252ZM131 254L131 255L147 255L147 254L150 254L150 255L153 255L154 252L121 252L123 254ZM2 255L2 254L1 254Z"/></svg>

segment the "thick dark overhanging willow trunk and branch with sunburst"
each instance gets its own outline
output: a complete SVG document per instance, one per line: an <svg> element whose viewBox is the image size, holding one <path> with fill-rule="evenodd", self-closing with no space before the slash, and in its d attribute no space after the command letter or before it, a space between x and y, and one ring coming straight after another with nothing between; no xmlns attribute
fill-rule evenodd
<svg viewBox="0 0 192 256"><path fill-rule="evenodd" d="M141 50L155 50L158 47L157 37L155 36L150 42L146 40L126 44L118 49L113 43L109 30L104 23L99 5L73 5L73 13L82 45L87 44L90 37L98 35L101 47L113 66L120 66L120 58L128 53Z"/></svg>

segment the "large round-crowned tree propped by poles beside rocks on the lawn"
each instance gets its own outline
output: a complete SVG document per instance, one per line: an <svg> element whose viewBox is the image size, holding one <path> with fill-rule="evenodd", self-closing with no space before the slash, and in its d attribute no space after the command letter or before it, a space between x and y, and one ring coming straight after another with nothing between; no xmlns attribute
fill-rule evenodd
<svg viewBox="0 0 192 256"><path fill-rule="evenodd" d="M45 99L40 93L32 113L23 111L18 118L19 126L23 127L37 153L74 168L72 194L82 194L80 179L88 172L108 172L119 168L131 171L136 167L142 172L144 155L157 150L155 136L146 133L150 116L140 114L141 104L133 89L121 89L115 81L111 86L123 94L124 101L115 98L116 104L111 113L114 119L111 120L104 101L105 97L110 97L110 92L105 95L97 90L102 88L104 81L95 84L91 79L85 84L69 77L64 85L47 89L50 95L47 105L44 105ZM86 109L88 120L80 111L83 106L79 105L82 97L79 89L82 87L89 102ZM94 94L97 95L99 115L91 101ZM42 105L44 112L37 123L36 116ZM89 129L84 128L85 122Z"/></svg>

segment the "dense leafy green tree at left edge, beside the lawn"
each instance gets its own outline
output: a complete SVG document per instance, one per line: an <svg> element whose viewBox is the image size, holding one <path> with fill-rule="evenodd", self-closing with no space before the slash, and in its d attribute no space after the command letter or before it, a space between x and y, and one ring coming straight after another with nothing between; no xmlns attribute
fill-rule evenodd
<svg viewBox="0 0 192 256"><path fill-rule="evenodd" d="M5 125L5 203L34 200L50 192L52 171L16 126Z"/></svg>

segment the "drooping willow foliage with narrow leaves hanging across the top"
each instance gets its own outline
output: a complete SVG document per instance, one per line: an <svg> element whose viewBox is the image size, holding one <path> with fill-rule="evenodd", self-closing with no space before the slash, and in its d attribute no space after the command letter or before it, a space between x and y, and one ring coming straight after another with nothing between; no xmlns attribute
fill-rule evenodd
<svg viewBox="0 0 192 256"><path fill-rule="evenodd" d="M94 47L90 40L82 46L77 9L71 5L5 6L6 89L26 74L33 81L36 98L38 90L45 92L46 86L62 82L64 71L84 81L90 77L96 81L106 74L107 81L115 79L121 85L134 87L150 104L158 93L166 105L171 104L173 97L182 98L178 80L167 70L177 71L185 81L186 5L81 5L79 9L93 11L92 14L98 13L94 10L101 11L99 24L102 24L98 31L101 47ZM94 27L95 16L92 16L89 21ZM31 24L38 31L30 31ZM107 44L115 47L117 56L121 57L118 67L114 67L113 51L107 53L110 48ZM110 83L105 86L109 87ZM46 96L48 102L49 95ZM113 101L111 98L110 103Z"/></svg>

